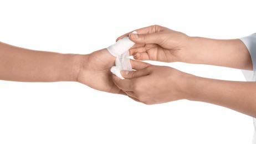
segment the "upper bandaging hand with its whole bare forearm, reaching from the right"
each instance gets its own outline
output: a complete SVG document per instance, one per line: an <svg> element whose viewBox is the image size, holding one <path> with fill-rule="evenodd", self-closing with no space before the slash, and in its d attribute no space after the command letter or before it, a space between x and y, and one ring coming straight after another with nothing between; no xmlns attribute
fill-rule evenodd
<svg viewBox="0 0 256 144"><path fill-rule="evenodd" d="M252 70L248 49L240 39L209 39L189 37L181 32L152 25L127 33L136 44L130 54L136 60L185 62Z"/></svg>

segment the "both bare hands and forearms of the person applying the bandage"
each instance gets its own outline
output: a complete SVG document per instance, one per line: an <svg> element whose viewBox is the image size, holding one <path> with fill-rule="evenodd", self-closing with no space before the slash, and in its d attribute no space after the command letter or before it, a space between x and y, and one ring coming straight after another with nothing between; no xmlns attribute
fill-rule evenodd
<svg viewBox="0 0 256 144"><path fill-rule="evenodd" d="M130 34L136 44L130 54L137 60L182 61L252 70L252 60L239 39L218 40L189 37L181 32L152 25ZM145 66L112 76L117 87L136 101L160 104L187 99L220 105L256 117L256 83L201 78L166 66Z"/></svg>

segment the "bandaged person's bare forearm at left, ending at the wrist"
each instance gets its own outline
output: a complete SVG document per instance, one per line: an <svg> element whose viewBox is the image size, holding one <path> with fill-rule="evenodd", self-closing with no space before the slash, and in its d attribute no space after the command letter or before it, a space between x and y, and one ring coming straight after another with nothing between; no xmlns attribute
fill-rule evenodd
<svg viewBox="0 0 256 144"><path fill-rule="evenodd" d="M0 42L0 79L10 81L76 81L83 55L41 52Z"/></svg>

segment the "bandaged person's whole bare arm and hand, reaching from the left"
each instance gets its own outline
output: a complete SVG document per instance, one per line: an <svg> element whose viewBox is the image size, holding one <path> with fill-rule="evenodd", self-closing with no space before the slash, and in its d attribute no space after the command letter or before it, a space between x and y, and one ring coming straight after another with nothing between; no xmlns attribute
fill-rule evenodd
<svg viewBox="0 0 256 144"><path fill-rule="evenodd" d="M93 89L124 94L112 81L115 57L107 49L91 54L60 54L0 42L0 79L23 82L76 81ZM134 68L149 65L131 60Z"/></svg>

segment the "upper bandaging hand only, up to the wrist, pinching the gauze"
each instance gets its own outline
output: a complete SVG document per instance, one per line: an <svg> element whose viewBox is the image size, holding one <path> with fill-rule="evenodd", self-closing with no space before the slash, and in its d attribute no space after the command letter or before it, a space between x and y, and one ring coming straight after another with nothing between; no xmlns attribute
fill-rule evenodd
<svg viewBox="0 0 256 144"><path fill-rule="evenodd" d="M184 48L189 37L186 34L159 25L135 31L138 34L127 33L117 38L119 40L130 34L130 39L136 43L130 49L134 59L174 62L187 58Z"/></svg>

